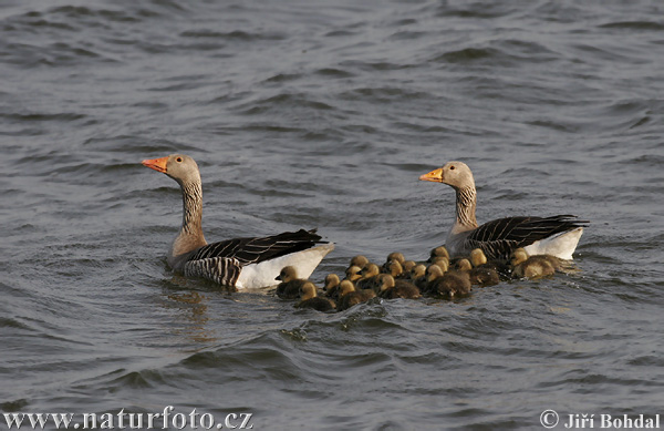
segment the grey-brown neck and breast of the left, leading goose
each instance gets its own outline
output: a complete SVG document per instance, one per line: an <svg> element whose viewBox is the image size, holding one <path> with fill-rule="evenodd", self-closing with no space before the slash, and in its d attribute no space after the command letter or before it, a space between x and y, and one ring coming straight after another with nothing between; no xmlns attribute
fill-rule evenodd
<svg viewBox="0 0 664 431"><path fill-rule="evenodd" d="M173 242L168 264L181 269L186 255L207 244L203 235L203 187L200 181L180 184L183 191L183 226Z"/></svg>

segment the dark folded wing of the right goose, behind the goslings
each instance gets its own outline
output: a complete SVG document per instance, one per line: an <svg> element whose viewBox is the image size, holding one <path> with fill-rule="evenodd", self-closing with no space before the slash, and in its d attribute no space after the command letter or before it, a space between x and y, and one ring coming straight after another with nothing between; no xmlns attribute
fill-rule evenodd
<svg viewBox="0 0 664 431"><path fill-rule="evenodd" d="M573 215L499 218L470 232L464 240L464 248L480 248L489 258L507 259L516 248L583 227L587 223Z"/></svg>

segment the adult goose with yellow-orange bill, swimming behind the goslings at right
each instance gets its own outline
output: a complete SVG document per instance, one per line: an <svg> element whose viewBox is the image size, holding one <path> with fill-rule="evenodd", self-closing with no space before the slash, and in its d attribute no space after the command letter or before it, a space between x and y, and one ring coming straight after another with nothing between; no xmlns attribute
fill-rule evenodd
<svg viewBox="0 0 664 431"><path fill-rule="evenodd" d="M475 218L475 179L465 163L448 162L419 179L444 183L456 192L456 220L445 242L452 256L468 255L474 248L480 248L489 259L508 259L511 252L523 247L530 255L551 255L570 260L583 227L589 223L572 215L557 215L507 217L478 226Z"/></svg>

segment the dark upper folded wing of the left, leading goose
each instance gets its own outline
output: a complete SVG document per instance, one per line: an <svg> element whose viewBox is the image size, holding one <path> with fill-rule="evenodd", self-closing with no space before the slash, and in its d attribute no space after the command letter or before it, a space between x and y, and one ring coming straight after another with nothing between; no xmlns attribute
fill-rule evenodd
<svg viewBox="0 0 664 431"><path fill-rule="evenodd" d="M317 244L325 243L315 229L284 232L283 234L261 238L235 238L208 244L198 248L188 263L210 258L231 258L240 266L258 264L279 256L305 250Z"/></svg>

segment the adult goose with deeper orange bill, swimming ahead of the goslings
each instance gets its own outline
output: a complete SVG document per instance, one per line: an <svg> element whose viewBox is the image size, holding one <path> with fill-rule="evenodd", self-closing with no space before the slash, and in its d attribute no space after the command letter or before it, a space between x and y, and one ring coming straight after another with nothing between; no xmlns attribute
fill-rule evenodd
<svg viewBox="0 0 664 431"><path fill-rule="evenodd" d="M175 179L183 193L183 225L170 246L168 265L187 277L203 277L236 289L276 284L284 266L308 278L334 245L313 230L208 244L203 235L203 186L198 165L184 154L144 160L143 165Z"/></svg>

